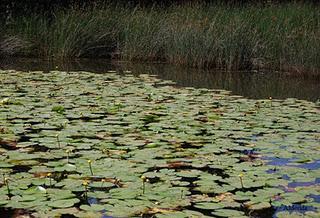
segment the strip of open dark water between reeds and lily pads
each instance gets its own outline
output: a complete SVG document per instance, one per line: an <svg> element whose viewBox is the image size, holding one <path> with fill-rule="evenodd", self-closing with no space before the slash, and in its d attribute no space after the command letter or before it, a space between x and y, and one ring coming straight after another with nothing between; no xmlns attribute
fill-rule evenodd
<svg viewBox="0 0 320 218"><path fill-rule="evenodd" d="M248 98L320 99L320 78L303 78L277 72L223 72L183 68L168 64L132 64L108 60L81 59L72 62L50 62L39 59L0 59L0 69L16 70L83 70L97 73L116 70L133 74L155 74L173 80L178 86L225 89Z"/></svg>

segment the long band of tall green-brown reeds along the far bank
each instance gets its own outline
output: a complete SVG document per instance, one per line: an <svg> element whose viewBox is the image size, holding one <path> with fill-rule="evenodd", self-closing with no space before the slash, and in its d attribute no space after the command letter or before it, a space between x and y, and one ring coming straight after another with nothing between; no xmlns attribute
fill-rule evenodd
<svg viewBox="0 0 320 218"><path fill-rule="evenodd" d="M16 55L314 74L320 69L320 10L309 4L75 8L50 20L14 19L4 35L28 45Z"/></svg>

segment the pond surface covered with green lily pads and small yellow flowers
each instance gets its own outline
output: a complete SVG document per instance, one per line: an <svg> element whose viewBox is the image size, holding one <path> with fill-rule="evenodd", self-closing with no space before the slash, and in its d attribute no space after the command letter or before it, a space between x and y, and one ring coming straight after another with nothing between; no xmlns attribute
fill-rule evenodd
<svg viewBox="0 0 320 218"><path fill-rule="evenodd" d="M319 216L317 93L68 67L0 71L1 214Z"/></svg>

